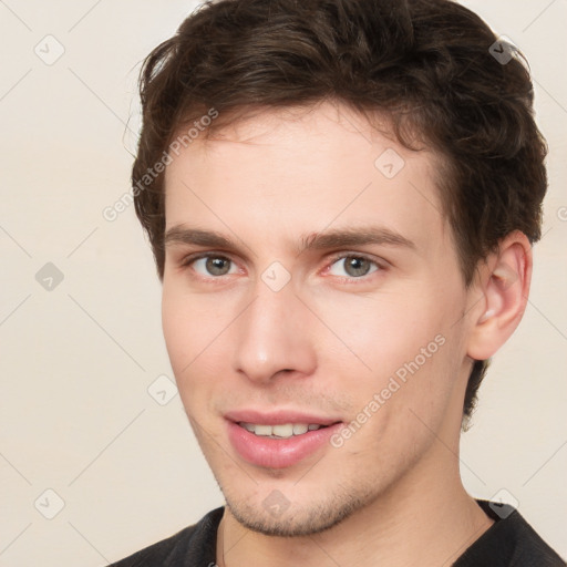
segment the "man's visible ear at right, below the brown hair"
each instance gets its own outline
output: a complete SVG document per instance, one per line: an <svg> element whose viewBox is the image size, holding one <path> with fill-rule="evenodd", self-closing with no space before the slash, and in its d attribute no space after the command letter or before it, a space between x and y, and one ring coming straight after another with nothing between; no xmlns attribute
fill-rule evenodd
<svg viewBox="0 0 567 567"><path fill-rule="evenodd" d="M471 289L477 302L471 310L468 357L489 359L516 330L527 305L532 267L532 246L519 230L506 236L478 267Z"/></svg>

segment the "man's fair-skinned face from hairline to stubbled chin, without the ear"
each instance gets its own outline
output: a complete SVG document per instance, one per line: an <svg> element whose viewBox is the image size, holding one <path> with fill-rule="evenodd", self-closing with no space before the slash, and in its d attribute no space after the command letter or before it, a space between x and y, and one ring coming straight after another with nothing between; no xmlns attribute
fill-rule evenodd
<svg viewBox="0 0 567 567"><path fill-rule="evenodd" d="M435 163L323 104L258 114L168 166L165 340L244 525L316 533L456 461L471 298Z"/></svg>

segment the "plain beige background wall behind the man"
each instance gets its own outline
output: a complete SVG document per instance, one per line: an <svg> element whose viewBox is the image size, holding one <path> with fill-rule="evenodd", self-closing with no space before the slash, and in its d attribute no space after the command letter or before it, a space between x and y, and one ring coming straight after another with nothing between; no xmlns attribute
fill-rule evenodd
<svg viewBox="0 0 567 567"><path fill-rule="evenodd" d="M462 471L567 555L567 2L465 3L526 53L551 153L530 303ZM140 62L194 6L0 1L0 566L106 565L221 504L179 398L148 393L172 372L134 209L102 215L128 189ZM51 290L48 262L64 277ZM151 391L168 400L167 384Z"/></svg>

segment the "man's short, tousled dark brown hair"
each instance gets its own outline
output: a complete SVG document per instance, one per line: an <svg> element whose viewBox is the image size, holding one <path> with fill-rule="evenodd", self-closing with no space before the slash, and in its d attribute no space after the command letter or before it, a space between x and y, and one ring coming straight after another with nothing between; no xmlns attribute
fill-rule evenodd
<svg viewBox="0 0 567 567"><path fill-rule="evenodd" d="M538 240L547 147L534 121L529 73L516 52L497 58L506 44L495 42L481 18L449 0L202 4L150 53L140 78L143 127L132 183L159 278L164 175L147 174L179 128L210 109L219 118L205 136L249 109L324 100L386 116L412 150L417 134L446 163L437 184L466 286L511 231ZM487 364L474 362L464 417Z"/></svg>

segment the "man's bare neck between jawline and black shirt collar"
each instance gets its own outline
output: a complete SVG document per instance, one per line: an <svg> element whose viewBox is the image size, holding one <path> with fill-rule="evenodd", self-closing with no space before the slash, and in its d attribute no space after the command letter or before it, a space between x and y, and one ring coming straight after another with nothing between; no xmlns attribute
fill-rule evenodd
<svg viewBox="0 0 567 567"><path fill-rule="evenodd" d="M449 566L492 524L464 489L458 458L444 444L434 443L419 466L394 487L320 534L265 536L241 526L225 508L217 564L370 567L380 559L389 567Z"/></svg>

